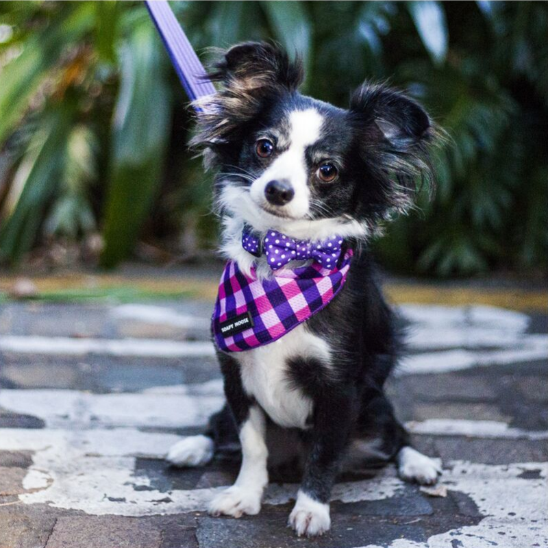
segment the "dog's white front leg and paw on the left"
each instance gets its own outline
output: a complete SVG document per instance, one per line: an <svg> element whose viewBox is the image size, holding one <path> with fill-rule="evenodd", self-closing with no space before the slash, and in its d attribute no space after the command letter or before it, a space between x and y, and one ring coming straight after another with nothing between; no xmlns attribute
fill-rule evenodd
<svg viewBox="0 0 548 548"><path fill-rule="evenodd" d="M269 482L266 460L266 425L263 412L253 406L249 417L240 429L242 444L242 465L236 482L210 503L209 512L214 516L241 517L243 514L255 515L260 512L262 493Z"/></svg>

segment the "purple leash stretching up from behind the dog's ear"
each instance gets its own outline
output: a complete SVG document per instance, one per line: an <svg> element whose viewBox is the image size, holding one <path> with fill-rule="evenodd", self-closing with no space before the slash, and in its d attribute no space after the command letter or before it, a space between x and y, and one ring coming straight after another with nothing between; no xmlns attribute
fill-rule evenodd
<svg viewBox="0 0 548 548"><path fill-rule="evenodd" d="M166 0L145 0L145 5L190 101L214 93L215 88L208 79L206 69L186 38L169 3Z"/></svg>

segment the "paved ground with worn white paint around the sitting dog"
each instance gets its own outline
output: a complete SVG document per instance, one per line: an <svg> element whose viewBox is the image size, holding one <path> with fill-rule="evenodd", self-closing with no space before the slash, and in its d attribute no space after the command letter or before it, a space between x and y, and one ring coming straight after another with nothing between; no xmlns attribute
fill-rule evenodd
<svg viewBox="0 0 548 548"><path fill-rule="evenodd" d="M442 488L356 469L308 540L286 529L295 484L271 484L259 516L212 518L234 465L162 460L222 402L208 301L0 303L0 548L547 547L547 314L401 312L389 390Z"/></svg>

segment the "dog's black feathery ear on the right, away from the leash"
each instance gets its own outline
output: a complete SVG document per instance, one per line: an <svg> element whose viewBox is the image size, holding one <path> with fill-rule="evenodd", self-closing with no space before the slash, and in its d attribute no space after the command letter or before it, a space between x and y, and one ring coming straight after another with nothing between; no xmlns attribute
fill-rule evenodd
<svg viewBox="0 0 548 548"><path fill-rule="evenodd" d="M406 210L417 179L433 188L429 151L438 131L419 103L388 86L360 86L349 112L363 160L384 181L390 205Z"/></svg>

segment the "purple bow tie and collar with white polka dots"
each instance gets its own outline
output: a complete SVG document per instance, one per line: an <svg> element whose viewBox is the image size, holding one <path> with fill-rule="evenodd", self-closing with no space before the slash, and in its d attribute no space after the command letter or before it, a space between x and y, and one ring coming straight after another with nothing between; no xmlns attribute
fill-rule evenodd
<svg viewBox="0 0 548 548"><path fill-rule="evenodd" d="M308 259L318 262L326 269L334 269L343 251L343 238L331 236L321 242L310 242L269 230L261 239L246 226L242 232L242 247L253 256L266 256L272 270L281 269L291 260Z"/></svg>

